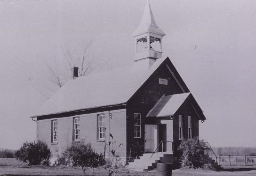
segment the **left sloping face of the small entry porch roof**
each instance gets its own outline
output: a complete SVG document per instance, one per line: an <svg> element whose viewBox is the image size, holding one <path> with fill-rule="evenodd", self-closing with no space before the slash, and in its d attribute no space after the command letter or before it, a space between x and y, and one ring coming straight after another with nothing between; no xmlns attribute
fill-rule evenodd
<svg viewBox="0 0 256 176"><path fill-rule="evenodd" d="M191 93L181 93L163 96L157 104L148 112L147 117L172 116L185 102Z"/></svg>

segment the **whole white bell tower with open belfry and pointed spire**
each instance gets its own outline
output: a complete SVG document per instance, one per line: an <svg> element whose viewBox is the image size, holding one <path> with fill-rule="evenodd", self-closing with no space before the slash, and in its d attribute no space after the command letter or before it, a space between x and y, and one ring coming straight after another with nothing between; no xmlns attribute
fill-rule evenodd
<svg viewBox="0 0 256 176"><path fill-rule="evenodd" d="M136 66L148 69L162 57L163 36L165 33L155 23L149 1L147 1L140 25L132 34L135 39L134 64Z"/></svg>

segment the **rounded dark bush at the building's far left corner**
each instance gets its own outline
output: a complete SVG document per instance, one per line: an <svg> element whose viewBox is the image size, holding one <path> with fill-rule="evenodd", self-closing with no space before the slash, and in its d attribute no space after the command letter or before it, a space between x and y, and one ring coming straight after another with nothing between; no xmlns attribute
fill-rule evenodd
<svg viewBox="0 0 256 176"><path fill-rule="evenodd" d="M49 165L51 156L50 149L45 142L38 141L25 142L23 146L15 152L15 157L28 165Z"/></svg>

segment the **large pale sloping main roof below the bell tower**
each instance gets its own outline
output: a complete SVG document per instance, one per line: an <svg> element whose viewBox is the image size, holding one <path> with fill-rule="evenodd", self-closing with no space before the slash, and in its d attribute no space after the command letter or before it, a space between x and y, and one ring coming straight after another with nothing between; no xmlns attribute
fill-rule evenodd
<svg viewBox="0 0 256 176"><path fill-rule="evenodd" d="M71 79L31 117L126 103L151 74L168 60L160 58L147 70L127 66Z"/></svg>

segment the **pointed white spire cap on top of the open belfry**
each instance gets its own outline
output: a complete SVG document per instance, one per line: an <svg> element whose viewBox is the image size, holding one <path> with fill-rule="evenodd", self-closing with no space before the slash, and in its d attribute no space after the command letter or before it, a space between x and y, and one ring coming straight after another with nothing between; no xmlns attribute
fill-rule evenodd
<svg viewBox="0 0 256 176"><path fill-rule="evenodd" d="M146 3L142 20L139 27L133 32L132 36L142 34L144 32L155 32L157 34L165 35L165 33L157 26L155 19L149 4L149 1Z"/></svg>

